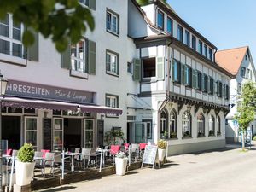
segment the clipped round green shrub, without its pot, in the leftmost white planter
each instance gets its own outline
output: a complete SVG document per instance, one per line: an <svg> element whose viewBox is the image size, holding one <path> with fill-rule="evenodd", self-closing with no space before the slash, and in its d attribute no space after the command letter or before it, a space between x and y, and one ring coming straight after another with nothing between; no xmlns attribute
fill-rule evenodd
<svg viewBox="0 0 256 192"><path fill-rule="evenodd" d="M32 144L24 143L18 152L18 160L20 162L32 162L34 160L35 151L32 147Z"/></svg>

